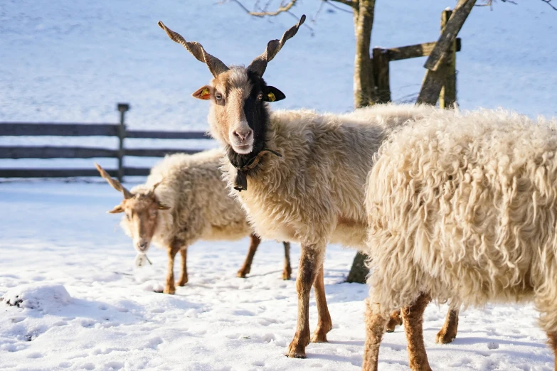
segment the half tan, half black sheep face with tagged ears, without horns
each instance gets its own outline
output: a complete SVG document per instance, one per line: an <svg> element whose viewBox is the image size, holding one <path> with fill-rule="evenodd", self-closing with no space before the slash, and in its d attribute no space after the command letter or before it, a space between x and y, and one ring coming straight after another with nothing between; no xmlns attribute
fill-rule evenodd
<svg viewBox="0 0 557 371"><path fill-rule="evenodd" d="M258 154L265 146L269 120L267 102L285 99L246 68L233 66L193 92L193 97L211 100L211 135L236 154Z"/></svg>

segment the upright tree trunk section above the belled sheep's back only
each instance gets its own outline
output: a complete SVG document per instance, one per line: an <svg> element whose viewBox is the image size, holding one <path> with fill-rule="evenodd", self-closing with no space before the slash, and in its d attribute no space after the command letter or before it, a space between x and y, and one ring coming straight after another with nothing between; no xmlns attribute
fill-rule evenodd
<svg viewBox="0 0 557 371"><path fill-rule="evenodd" d="M369 45L375 0L360 0L354 8L354 33L356 33L356 58L354 59L354 106L366 107L377 101Z"/></svg>

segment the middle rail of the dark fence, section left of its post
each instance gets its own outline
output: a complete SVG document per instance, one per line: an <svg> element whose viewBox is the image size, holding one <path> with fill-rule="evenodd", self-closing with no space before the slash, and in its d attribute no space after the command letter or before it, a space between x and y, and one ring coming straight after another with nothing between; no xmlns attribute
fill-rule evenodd
<svg viewBox="0 0 557 371"><path fill-rule="evenodd" d="M0 146L0 158L95 158L117 157L117 151L104 148L56 146Z"/></svg>

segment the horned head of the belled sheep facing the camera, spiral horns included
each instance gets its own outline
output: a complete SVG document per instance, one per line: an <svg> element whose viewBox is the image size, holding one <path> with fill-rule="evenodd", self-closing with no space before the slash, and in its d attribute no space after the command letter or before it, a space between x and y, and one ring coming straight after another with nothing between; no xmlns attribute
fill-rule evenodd
<svg viewBox="0 0 557 371"><path fill-rule="evenodd" d="M179 33L159 22L172 41L180 43L199 61L206 63L213 75L210 85L193 92L193 97L211 100L209 124L211 134L225 147L230 162L237 168L246 166L265 149L269 110L266 102L285 99L276 87L262 79L267 63L275 58L282 45L295 36L305 16L282 35L267 43L267 49L247 68L225 65L207 53L201 44L185 41Z"/></svg>

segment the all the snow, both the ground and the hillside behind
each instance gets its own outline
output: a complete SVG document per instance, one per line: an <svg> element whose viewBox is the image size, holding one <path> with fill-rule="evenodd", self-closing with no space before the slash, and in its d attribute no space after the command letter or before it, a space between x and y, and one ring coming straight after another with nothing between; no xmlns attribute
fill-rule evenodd
<svg viewBox="0 0 557 371"><path fill-rule="evenodd" d="M313 23L317 1L298 2L294 11L308 15L312 31L304 26L267 68L267 82L287 95L273 107L349 111L352 16L329 8ZM249 18L233 3L215 3L2 1L0 121L116 122L115 104L129 102L131 129L207 130L206 102L189 95L211 75L169 41L157 21L200 41L229 64L249 63L270 38L295 23L288 14ZM372 45L435 41L440 11L454 5L452 0L378 1ZM460 32L461 107L557 115L556 20L557 12L542 1L474 9ZM391 64L395 100L415 97L423 63L425 58ZM53 142L116 145L104 138L0 138L0 144ZM216 144L130 139L127 146ZM92 167L93 161L114 166L95 158L2 160L0 167ZM156 159L126 161L150 166ZM299 246L292 245L293 278L282 281L283 249L277 242L262 243L248 279L235 276L248 240L200 242L189 249L189 283L174 296L157 294L166 254L150 250L153 265L134 267L135 252L118 217L105 213L119 202L119 193L95 181L0 183L1 370L359 370L367 288L344 283L354 250L327 249L325 285L334 323L329 343L310 344L307 360L289 359L284 353L295 332ZM19 299L18 306L8 304ZM425 312L433 369L553 370L533 306L467 309L454 343L436 345L446 311L430 305ZM312 299L310 325L316 324ZM380 370L408 369L405 344L400 328L385 335Z"/></svg>

